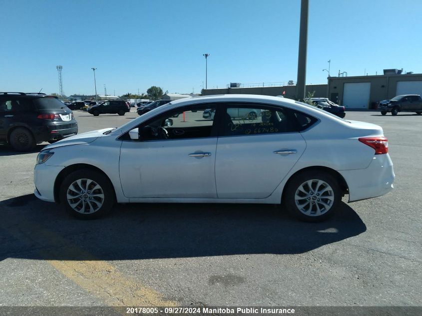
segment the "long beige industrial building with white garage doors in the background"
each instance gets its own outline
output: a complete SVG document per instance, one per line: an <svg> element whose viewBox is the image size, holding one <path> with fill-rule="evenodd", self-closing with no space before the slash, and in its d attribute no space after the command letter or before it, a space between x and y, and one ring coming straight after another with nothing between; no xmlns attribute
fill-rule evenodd
<svg viewBox="0 0 422 316"><path fill-rule="evenodd" d="M374 109L378 102L400 94L422 95L422 73L402 72L400 69L384 69L382 75L328 77L327 84L306 85L305 95L314 92L314 97L328 97L348 109ZM230 84L223 89L204 89L202 94L283 95L285 98L296 99L296 85L253 88L240 86Z"/></svg>

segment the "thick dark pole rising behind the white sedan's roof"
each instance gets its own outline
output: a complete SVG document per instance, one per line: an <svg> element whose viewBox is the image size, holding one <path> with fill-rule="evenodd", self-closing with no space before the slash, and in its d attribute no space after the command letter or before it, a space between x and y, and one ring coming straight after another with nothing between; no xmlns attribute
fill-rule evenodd
<svg viewBox="0 0 422 316"><path fill-rule="evenodd" d="M298 56L298 80L296 83L296 98L305 98L306 88L306 52L308 46L308 7L309 0L301 0L300 30L299 30L299 56Z"/></svg>

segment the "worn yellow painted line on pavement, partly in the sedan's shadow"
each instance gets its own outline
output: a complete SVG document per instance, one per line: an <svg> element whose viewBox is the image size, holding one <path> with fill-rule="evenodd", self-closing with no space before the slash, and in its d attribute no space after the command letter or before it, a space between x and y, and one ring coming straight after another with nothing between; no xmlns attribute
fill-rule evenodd
<svg viewBox="0 0 422 316"><path fill-rule="evenodd" d="M105 306L177 306L176 302L166 300L159 292L121 274L116 267L94 258L62 236L26 220L16 211L10 213L13 214L12 220L3 216L4 221L0 223L3 230L38 249L41 258Z"/></svg>

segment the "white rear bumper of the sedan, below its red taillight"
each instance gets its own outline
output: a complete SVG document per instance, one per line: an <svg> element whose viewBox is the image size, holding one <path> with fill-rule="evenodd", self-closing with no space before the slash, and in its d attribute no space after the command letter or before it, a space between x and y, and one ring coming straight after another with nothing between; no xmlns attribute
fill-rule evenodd
<svg viewBox="0 0 422 316"><path fill-rule="evenodd" d="M393 190L395 178L390 155L375 155L366 169L341 170L349 187L349 202L375 198Z"/></svg>

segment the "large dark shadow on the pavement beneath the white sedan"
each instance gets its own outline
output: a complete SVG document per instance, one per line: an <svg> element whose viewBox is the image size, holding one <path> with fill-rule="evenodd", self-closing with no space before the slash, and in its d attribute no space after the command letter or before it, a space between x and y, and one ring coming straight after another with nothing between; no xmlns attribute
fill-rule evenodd
<svg viewBox="0 0 422 316"><path fill-rule="evenodd" d="M24 195L0 202L0 259L137 260L239 254L298 254L366 231L346 203L322 223L274 205L126 204L77 220Z"/></svg>

